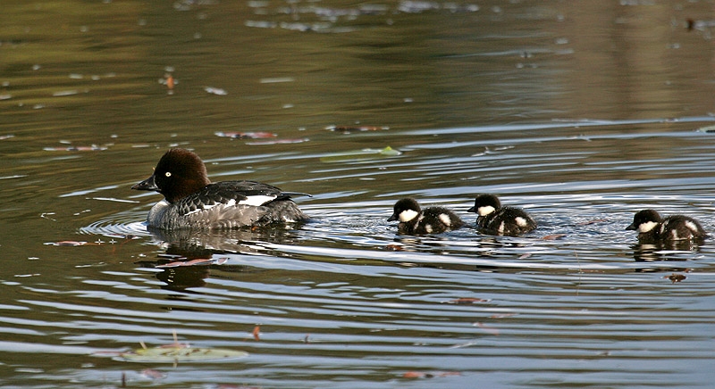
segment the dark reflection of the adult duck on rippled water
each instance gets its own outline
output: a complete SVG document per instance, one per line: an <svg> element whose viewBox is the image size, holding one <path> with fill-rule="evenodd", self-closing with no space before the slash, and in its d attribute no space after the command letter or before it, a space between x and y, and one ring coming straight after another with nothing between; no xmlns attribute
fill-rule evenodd
<svg viewBox="0 0 715 389"><path fill-rule="evenodd" d="M140 261L149 268L163 269L156 278L166 285L163 289L186 292L205 286L212 266L225 261L221 254L271 254L266 243L292 244L296 231L290 228L234 229L226 231L151 230L157 243L166 245L166 252L156 261ZM241 272L245 266L223 265L223 271Z"/></svg>

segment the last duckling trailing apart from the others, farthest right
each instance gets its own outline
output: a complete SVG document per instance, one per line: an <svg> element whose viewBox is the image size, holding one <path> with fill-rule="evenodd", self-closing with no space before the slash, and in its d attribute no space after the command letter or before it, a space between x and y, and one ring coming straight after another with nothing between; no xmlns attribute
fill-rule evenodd
<svg viewBox="0 0 715 389"><path fill-rule="evenodd" d="M687 216L673 215L660 219L657 211L638 211L633 223L626 229L637 230L641 242L666 242L686 239L702 239L708 234L700 223Z"/></svg>

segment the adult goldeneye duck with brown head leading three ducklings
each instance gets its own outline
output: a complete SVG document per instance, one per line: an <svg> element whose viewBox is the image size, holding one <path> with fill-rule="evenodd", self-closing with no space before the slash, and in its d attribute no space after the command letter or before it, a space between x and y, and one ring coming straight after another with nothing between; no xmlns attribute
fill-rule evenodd
<svg viewBox="0 0 715 389"><path fill-rule="evenodd" d="M132 189L156 191L164 200L147 215L150 228L240 228L307 220L291 195L254 181L211 183L206 165L189 150L164 153L151 177Z"/></svg>

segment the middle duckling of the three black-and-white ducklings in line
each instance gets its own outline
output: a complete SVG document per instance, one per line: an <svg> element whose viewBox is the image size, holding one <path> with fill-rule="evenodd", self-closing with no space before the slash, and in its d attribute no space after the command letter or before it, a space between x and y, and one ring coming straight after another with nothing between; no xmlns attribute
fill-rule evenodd
<svg viewBox="0 0 715 389"><path fill-rule="evenodd" d="M476 227L492 235L517 236L536 228L536 222L526 211L502 207L495 195L477 195L475 206L467 212L476 212Z"/></svg>

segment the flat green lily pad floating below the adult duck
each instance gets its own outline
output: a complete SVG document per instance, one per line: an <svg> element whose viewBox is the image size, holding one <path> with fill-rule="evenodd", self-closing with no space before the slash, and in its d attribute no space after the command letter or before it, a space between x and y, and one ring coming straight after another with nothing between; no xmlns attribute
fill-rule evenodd
<svg viewBox="0 0 715 389"><path fill-rule="evenodd" d="M198 347L152 347L122 352L119 357L129 362L141 363L221 362L246 358L248 352Z"/></svg>

